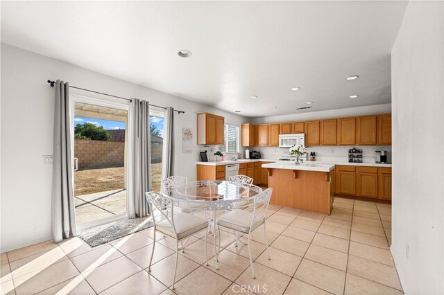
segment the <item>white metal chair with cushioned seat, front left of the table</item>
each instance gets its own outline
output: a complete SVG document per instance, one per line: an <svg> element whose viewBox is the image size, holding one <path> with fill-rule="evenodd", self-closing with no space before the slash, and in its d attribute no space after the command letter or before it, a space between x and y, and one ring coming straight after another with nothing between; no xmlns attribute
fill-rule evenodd
<svg viewBox="0 0 444 295"><path fill-rule="evenodd" d="M174 289L174 283L176 280L176 272L178 269L178 255L179 255L179 242L189 238L191 235L198 233L199 231L206 231L208 227L208 221L193 215L192 213L178 213L175 214L174 206L176 199L169 196L158 195L154 192L145 193L147 201L151 204L151 213L153 217L154 226L154 244L151 251L150 262L148 265L148 272L151 272L151 262L153 261L153 254L155 248L155 232L160 231L165 235L169 235L171 238L176 239L176 265L174 267L173 284L171 289ZM182 202L182 201L181 201ZM192 202L192 201L184 201ZM206 265L208 265L207 258L207 235L205 235L205 259ZM183 252L183 245L182 245Z"/></svg>

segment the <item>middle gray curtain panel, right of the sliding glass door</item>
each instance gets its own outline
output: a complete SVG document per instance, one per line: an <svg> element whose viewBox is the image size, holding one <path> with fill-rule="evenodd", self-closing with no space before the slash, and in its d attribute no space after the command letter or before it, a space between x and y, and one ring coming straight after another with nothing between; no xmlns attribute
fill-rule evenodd
<svg viewBox="0 0 444 295"><path fill-rule="evenodd" d="M145 193L151 190L150 109L146 100L131 99L128 129L128 216L149 214Z"/></svg>

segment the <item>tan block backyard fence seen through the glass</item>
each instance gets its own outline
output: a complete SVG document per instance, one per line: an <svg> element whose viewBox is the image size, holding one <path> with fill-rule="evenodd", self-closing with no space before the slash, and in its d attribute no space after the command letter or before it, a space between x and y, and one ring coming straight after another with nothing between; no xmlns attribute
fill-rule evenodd
<svg viewBox="0 0 444 295"><path fill-rule="evenodd" d="M90 141L76 139L74 157L78 170L123 167L124 141ZM162 162L162 143L151 143L151 163Z"/></svg>

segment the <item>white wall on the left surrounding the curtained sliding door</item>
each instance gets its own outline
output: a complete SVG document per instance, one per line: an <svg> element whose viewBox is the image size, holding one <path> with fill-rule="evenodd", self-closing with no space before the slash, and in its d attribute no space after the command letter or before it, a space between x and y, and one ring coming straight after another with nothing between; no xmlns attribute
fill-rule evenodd
<svg viewBox="0 0 444 295"><path fill-rule="evenodd" d="M141 87L43 55L1 44L1 251L51 239L52 166L42 166L42 155L53 151L54 88L46 80L185 111L176 114L177 175L196 179L198 145L193 154L182 153L182 127L196 136L197 112L210 111L225 123L240 125L247 118ZM71 93L92 93L71 89ZM106 96L94 95L96 98Z"/></svg>

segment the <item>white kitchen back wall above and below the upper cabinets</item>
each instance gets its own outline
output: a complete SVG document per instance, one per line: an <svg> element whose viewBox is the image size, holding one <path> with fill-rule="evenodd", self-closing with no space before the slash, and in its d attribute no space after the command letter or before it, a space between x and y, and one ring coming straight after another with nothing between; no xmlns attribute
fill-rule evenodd
<svg viewBox="0 0 444 295"><path fill-rule="evenodd" d="M270 116L264 118L254 118L251 123L284 123L305 120L318 120L327 118L341 118L347 116L366 116L374 114L391 113L391 105L370 105L368 107L350 107L347 109L332 109L329 111L310 111L302 114L291 114L284 116ZM316 161L348 161L348 150L353 146L314 146L308 147L308 152L316 152ZM388 161L391 161L391 146L368 145L360 146L363 150L364 162L374 163L376 159L375 150L388 151ZM282 154L288 153L288 149L278 147L252 147L250 150L259 150L264 159L279 159Z"/></svg>

